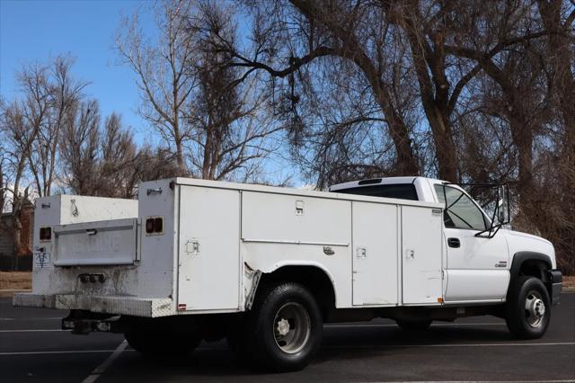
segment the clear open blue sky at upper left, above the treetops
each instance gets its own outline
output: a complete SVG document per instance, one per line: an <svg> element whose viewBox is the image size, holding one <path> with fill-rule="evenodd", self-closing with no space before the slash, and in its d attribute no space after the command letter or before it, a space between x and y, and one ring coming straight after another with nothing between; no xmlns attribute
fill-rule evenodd
<svg viewBox="0 0 575 383"><path fill-rule="evenodd" d="M140 7L143 28L153 29L143 5L139 0L0 0L0 94L5 100L18 94L14 74L22 65L69 54L75 58L73 74L90 83L85 94L100 102L102 116L118 111L137 142L147 142L149 128L136 113L135 76L119 64L113 49L122 14Z"/></svg>

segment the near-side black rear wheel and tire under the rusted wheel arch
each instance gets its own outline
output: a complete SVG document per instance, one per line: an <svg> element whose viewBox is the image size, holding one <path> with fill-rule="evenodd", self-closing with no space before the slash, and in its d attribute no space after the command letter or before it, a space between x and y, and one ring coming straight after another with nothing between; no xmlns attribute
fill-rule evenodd
<svg viewBox="0 0 575 383"><path fill-rule="evenodd" d="M281 282L258 293L244 328L241 348L253 367L296 371L313 361L319 350L323 318L304 286Z"/></svg>

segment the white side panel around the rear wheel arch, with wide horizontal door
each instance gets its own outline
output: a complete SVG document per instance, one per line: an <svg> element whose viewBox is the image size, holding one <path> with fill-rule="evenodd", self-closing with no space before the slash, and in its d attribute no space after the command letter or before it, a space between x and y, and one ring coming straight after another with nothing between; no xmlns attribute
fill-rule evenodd
<svg viewBox="0 0 575 383"><path fill-rule="evenodd" d="M351 201L321 194L243 191L243 262L261 272L315 265L330 275L336 307L351 307Z"/></svg>

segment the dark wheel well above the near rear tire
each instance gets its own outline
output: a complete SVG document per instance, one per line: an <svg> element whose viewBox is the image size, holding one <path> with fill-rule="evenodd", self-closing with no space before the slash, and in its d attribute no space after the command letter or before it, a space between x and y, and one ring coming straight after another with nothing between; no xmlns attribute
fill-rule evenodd
<svg viewBox="0 0 575 383"><path fill-rule="evenodd" d="M296 282L309 289L322 310L323 317L335 308L335 291L332 281L319 267L283 266L274 272L261 274L260 285L279 281Z"/></svg>

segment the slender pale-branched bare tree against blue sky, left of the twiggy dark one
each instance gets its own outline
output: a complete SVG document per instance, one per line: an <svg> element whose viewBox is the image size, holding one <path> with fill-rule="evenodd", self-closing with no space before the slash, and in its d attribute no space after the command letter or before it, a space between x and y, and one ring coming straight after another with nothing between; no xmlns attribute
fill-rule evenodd
<svg viewBox="0 0 575 383"><path fill-rule="evenodd" d="M140 30L137 13L122 20L116 37L120 57L137 75L142 97L139 112L165 143L174 147L181 175L188 174L184 145L190 138L183 110L196 86L196 78L187 68L196 54L188 26L191 6L187 0L156 4L159 37L155 44L148 43Z"/></svg>

